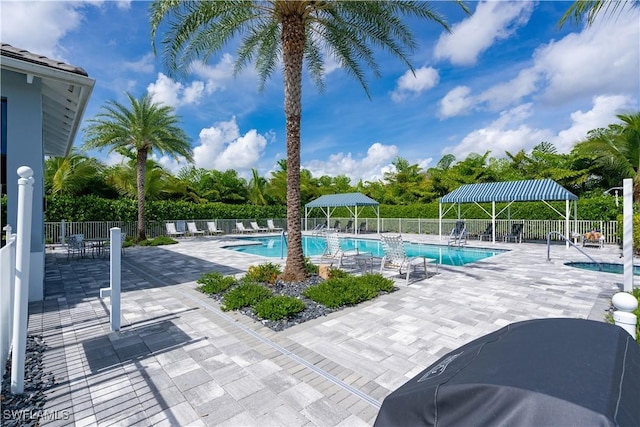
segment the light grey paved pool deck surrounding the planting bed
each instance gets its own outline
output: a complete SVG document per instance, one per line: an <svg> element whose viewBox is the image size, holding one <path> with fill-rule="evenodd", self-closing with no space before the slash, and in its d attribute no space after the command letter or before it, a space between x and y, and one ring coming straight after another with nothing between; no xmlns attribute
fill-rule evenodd
<svg viewBox="0 0 640 427"><path fill-rule="evenodd" d="M565 266L588 261L574 248L553 245L547 261L544 244L470 240L510 251L441 266L408 287L385 273L397 292L274 332L222 312L195 281L279 258L222 249L232 236L178 240L126 249L119 332L110 332L109 299L99 298L108 261L47 251L45 300L30 305L29 317L57 379L43 410L58 419L43 425L367 426L385 396L447 352L522 320L603 321L622 286L622 275ZM585 251L621 262L616 246Z"/></svg>

